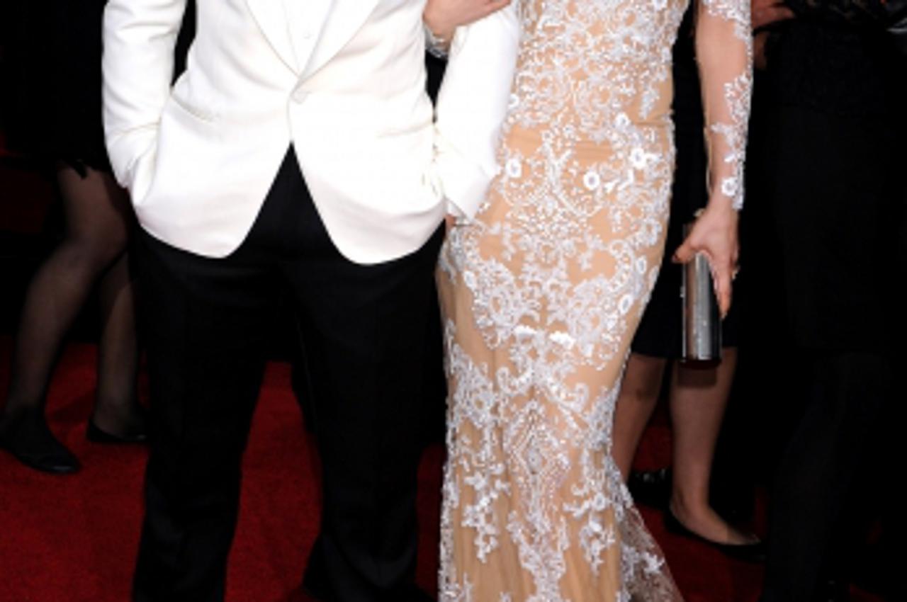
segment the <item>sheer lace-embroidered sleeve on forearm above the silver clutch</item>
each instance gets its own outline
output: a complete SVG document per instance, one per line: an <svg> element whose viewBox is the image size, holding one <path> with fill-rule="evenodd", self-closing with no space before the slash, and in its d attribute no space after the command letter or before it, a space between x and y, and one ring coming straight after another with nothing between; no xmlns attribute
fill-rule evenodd
<svg viewBox="0 0 907 602"><path fill-rule="evenodd" d="M749 0L698 0L696 52L706 112L711 199L743 208L746 128L753 90Z"/></svg>

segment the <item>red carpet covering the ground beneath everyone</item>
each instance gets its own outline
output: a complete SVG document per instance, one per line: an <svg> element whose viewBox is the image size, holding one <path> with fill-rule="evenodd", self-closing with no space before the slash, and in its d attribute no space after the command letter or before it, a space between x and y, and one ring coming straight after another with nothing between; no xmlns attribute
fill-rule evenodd
<svg viewBox="0 0 907 602"><path fill-rule="evenodd" d="M0 391L10 341L0 338ZM94 348L71 345L49 396L54 432L83 461L83 471L54 477L0 453L0 602L126 602L141 520L141 448L85 441ZM667 461L668 429L647 434L639 462ZM440 446L419 473L422 534L418 579L434 590ZM295 602L318 523L317 460L290 391L287 364L271 364L245 461L242 514L230 558L229 602ZM752 602L761 569L707 546L668 535L657 512L643 510L688 602ZM855 602L872 598L856 595ZM491 602L491 601L489 601ZM579 602L579 601L578 601Z"/></svg>

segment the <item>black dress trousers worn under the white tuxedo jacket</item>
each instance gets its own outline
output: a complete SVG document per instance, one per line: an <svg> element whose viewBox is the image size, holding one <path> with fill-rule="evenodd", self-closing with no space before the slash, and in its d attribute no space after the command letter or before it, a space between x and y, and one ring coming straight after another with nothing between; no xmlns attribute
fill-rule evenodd
<svg viewBox="0 0 907 602"><path fill-rule="evenodd" d="M264 325L287 286L307 325L324 474L307 582L331 601L407 599L424 364L435 357L424 353L424 325L442 238L439 228L408 256L352 263L328 237L292 149L229 257L143 235L153 431L136 602L223 599L240 461L266 362Z"/></svg>

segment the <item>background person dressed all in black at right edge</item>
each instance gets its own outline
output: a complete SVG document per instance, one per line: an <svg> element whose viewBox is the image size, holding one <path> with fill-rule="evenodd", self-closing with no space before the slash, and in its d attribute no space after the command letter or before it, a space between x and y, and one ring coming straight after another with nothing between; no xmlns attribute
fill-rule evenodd
<svg viewBox="0 0 907 602"><path fill-rule="evenodd" d="M750 163L770 203L774 231L764 238L778 243L778 263L763 272L778 278L758 294L780 297L785 320L766 345L774 353L764 357L763 374L773 374L764 399L778 399L766 409L766 432L795 414L772 499L762 601L812 602L846 596L840 572L853 562L854 517L866 512L856 502L873 499L868 443L880 441L903 341L892 286L905 275L907 78L871 3L787 5L795 18L765 46L765 131ZM823 591L830 577L844 587Z"/></svg>

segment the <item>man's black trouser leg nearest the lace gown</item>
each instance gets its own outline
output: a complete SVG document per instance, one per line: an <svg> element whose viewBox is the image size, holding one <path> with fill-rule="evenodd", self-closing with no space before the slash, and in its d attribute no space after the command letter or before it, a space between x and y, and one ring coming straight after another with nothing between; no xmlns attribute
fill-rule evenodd
<svg viewBox="0 0 907 602"><path fill-rule="evenodd" d="M356 266L336 250L285 267L306 321L324 467L306 585L326 600L405 601L416 557L416 471L440 233L418 252ZM435 319L440 317L435 316Z"/></svg>

